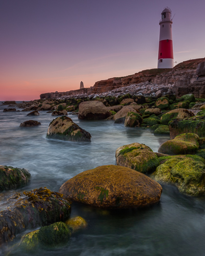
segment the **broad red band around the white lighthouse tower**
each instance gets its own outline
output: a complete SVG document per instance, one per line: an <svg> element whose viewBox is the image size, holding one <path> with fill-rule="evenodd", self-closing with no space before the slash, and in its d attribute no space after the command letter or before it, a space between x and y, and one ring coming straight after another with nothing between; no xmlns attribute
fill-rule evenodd
<svg viewBox="0 0 205 256"><path fill-rule="evenodd" d="M159 43L159 59L174 59L172 40L162 40Z"/></svg>

